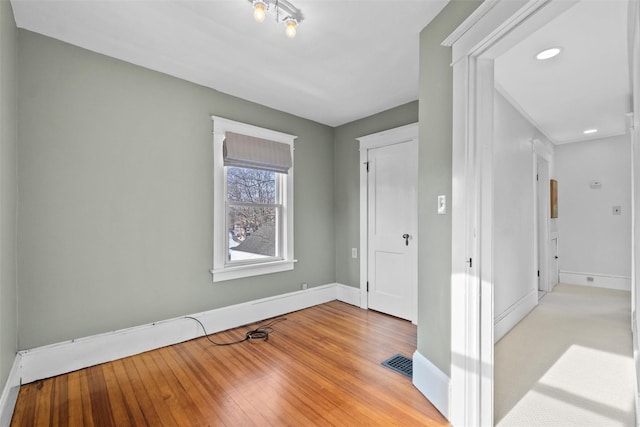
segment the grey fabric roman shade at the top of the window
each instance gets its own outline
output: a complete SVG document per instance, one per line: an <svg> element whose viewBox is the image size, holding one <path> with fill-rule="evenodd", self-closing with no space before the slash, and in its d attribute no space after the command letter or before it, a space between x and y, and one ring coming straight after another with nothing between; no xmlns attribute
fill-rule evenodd
<svg viewBox="0 0 640 427"><path fill-rule="evenodd" d="M293 162L291 146L282 142L225 132L224 165L288 173Z"/></svg>

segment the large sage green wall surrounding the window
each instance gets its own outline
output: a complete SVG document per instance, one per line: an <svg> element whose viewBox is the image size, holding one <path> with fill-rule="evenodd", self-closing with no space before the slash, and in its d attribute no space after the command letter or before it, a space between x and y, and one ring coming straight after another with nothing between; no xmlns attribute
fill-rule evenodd
<svg viewBox="0 0 640 427"><path fill-rule="evenodd" d="M335 282L332 128L18 40L19 348ZM212 283L211 114L299 136L294 271Z"/></svg>

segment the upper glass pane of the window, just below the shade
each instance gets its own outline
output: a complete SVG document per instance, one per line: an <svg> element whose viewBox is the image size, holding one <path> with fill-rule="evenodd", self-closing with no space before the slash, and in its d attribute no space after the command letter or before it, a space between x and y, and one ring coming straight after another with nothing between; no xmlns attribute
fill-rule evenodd
<svg viewBox="0 0 640 427"><path fill-rule="evenodd" d="M276 203L276 173L227 167L227 200L246 203Z"/></svg>

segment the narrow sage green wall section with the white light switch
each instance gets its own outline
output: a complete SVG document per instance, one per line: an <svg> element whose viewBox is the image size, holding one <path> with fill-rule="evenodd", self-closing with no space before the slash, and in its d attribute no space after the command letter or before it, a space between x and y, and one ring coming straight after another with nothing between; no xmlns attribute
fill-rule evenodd
<svg viewBox="0 0 640 427"><path fill-rule="evenodd" d="M451 365L451 201L453 73L442 41L481 1L452 0L420 33L420 149L418 183L418 351L442 372Z"/></svg>

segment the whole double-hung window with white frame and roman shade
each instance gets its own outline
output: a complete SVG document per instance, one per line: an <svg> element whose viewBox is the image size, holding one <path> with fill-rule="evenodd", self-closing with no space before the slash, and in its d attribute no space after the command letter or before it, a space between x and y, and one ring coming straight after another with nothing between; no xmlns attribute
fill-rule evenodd
<svg viewBox="0 0 640 427"><path fill-rule="evenodd" d="M213 118L213 281L292 270L295 136Z"/></svg>

